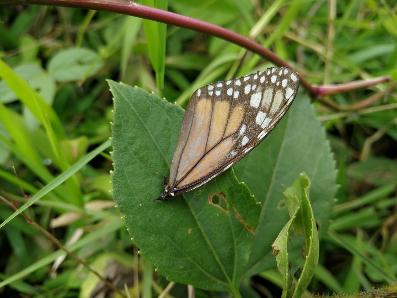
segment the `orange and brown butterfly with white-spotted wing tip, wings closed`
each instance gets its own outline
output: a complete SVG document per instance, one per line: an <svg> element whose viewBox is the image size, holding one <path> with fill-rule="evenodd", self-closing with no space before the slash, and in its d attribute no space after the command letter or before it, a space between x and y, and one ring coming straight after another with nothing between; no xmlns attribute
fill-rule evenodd
<svg viewBox="0 0 397 298"><path fill-rule="evenodd" d="M168 182L156 200L194 190L245 157L291 106L299 75L268 68L201 87L183 117Z"/></svg>

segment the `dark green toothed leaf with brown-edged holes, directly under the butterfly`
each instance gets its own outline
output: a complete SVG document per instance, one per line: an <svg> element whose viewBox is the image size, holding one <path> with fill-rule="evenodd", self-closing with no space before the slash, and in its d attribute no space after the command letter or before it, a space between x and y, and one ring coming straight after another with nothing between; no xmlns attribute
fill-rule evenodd
<svg viewBox="0 0 397 298"><path fill-rule="evenodd" d="M170 172L184 112L137 87L109 85L115 98L113 197L140 253L169 280L239 296L260 204L233 170L153 202Z"/></svg>

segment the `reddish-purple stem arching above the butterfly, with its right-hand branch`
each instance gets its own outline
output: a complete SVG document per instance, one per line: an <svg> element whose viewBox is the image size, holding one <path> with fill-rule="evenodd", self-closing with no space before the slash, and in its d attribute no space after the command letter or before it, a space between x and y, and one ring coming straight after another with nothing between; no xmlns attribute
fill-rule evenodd
<svg viewBox="0 0 397 298"><path fill-rule="evenodd" d="M175 14L173 12L168 12L153 8L150 6L145 6L142 4L137 4L132 1L125 0L0 0L1 4L39 4L39 5L50 5L50 6L66 6L73 8L83 8L100 10L105 12L115 12L117 14L132 15L135 17L140 17L144 19L149 19L152 21L158 21L161 23L166 23L168 25L175 25L177 27L186 28L194 30L197 32L205 33L208 35L216 36L225 41L235 43L236 45L247 48L248 50L259 54L264 59L273 62L278 66L289 66L287 62L279 58L272 51L264 48L263 46L255 43L251 39L239 35L233 31L227 30L223 27L200 21L198 19L193 19L184 15ZM355 81L345 84L329 85L329 86L313 86L311 85L303 75L300 75L301 84L304 85L306 91L313 98L325 95L331 95L335 93L341 93L345 91L355 90L362 87L368 87L376 83L382 83L389 80L389 77L380 77L371 80ZM327 104L325 101L324 104ZM337 104L327 104L333 109L341 110L343 108L338 108Z"/></svg>

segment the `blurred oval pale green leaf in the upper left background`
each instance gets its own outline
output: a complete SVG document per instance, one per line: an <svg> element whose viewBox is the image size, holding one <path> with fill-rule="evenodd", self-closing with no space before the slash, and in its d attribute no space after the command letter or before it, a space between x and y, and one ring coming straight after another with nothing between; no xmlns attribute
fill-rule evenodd
<svg viewBox="0 0 397 298"><path fill-rule="evenodd" d="M87 48L68 48L48 61L48 73L58 82L81 81L95 75L104 66L96 52Z"/></svg>

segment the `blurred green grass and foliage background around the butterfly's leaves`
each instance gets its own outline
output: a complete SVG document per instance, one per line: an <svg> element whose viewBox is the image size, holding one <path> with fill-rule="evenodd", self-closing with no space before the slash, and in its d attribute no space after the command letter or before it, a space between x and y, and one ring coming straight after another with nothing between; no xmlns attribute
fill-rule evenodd
<svg viewBox="0 0 397 298"><path fill-rule="evenodd" d="M157 2L158 7L166 3ZM383 75L395 79L396 9L394 1L168 4L170 11L251 37L312 84ZM106 268L112 268L121 288L127 283L132 294L141 290L144 297L158 296L169 282L138 256L109 192L114 107L106 79L161 92L184 108L198 87L273 65L216 37L146 25L126 15L10 5L1 6L0 21L0 187L19 205L25 203L14 166L28 198L43 188L52 190L31 206L32 219L100 273L110 274ZM150 30L162 40L151 43L153 36L145 35ZM342 107L360 104L357 111L341 112L313 102L333 152L339 188L333 211L321 218L331 220L329 231L318 226L324 237L319 266L308 286L311 292L342 295L396 281L395 86L391 81L327 97ZM103 150L100 155L94 152L98 148ZM72 165L75 170L70 172ZM244 181L240 177L247 173L238 169L236 176ZM56 180L62 174L64 183ZM252 192L257 188L252 185ZM2 222L12 213L0 202ZM87 281L98 283L77 261L63 259L63 253L22 217L0 229L0 244L4 296L89 297ZM273 255L266 257L275 265ZM241 295L260 297L270 291L280 296L283 279L277 269L254 269L254 277L247 274L241 280ZM198 288L195 293L227 296ZM170 295L186 297L187 288L175 284Z"/></svg>

